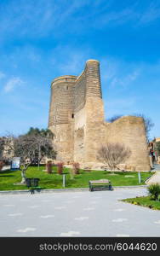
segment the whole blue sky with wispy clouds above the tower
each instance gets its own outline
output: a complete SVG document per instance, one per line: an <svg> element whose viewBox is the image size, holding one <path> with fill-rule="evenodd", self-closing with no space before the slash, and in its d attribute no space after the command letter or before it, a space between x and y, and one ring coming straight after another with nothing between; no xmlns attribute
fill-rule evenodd
<svg viewBox="0 0 160 256"><path fill-rule="evenodd" d="M51 81L100 61L106 118L144 113L160 137L160 2L1 0L0 136L46 128Z"/></svg>

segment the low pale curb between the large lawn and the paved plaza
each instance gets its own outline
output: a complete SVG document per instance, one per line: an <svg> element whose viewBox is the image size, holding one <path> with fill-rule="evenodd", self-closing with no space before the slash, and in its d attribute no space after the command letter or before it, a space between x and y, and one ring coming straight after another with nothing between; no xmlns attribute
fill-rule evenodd
<svg viewBox="0 0 160 256"><path fill-rule="evenodd" d="M144 189L147 188L147 185L140 185L140 186L115 186L113 189ZM54 192L83 192L83 191L89 191L89 188L75 188L75 189L42 189L40 192L35 191L35 194L39 193L54 193ZM0 191L0 195L24 195L31 193L30 190L4 190Z"/></svg>

